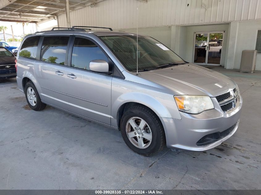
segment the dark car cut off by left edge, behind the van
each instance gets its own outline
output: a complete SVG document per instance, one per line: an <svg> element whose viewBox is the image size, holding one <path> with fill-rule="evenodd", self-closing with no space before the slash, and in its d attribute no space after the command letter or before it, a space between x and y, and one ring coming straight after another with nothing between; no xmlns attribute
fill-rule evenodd
<svg viewBox="0 0 261 195"><path fill-rule="evenodd" d="M16 57L5 47L0 47L0 80L16 77Z"/></svg>

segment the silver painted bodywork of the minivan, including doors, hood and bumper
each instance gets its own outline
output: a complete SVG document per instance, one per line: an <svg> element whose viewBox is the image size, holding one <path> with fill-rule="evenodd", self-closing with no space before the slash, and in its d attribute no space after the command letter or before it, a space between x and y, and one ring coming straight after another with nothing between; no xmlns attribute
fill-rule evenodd
<svg viewBox="0 0 261 195"><path fill-rule="evenodd" d="M236 83L225 75L191 63L139 72L138 75L129 72L99 36L135 35L131 33L47 31L26 37L37 35L75 35L92 39L124 75L124 79L121 79L37 59L27 59L19 57L18 52L19 89L23 91L23 78L29 78L35 84L42 101L48 105L117 128L117 113L122 105L129 102L143 104L153 110L161 120L167 147L184 150L203 151L216 147L232 136L238 128L242 97L238 108L229 114L221 110L215 98L236 87ZM71 74L75 77L68 76ZM180 112L174 95L208 95L215 108L196 115ZM196 145L201 137L224 131L234 124L236 126L233 131L224 138L207 146Z"/></svg>

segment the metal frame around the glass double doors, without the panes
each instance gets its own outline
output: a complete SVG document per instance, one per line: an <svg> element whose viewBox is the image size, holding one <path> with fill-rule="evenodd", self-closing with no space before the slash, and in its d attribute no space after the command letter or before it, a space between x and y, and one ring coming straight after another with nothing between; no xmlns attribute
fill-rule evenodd
<svg viewBox="0 0 261 195"><path fill-rule="evenodd" d="M209 48L209 37L210 37L210 34L211 34L211 33L223 33L222 49L221 49L221 56L220 56L220 63L219 63L219 64L209 64L209 63L208 63L208 51L209 51L209 49L206 51L205 63L194 63L196 34L206 34L206 33L208 33L208 39L207 39L207 47L208 47L208 48ZM198 64L198 65L220 66L220 65L221 65L221 60L222 60L222 53L223 53L224 37L225 37L225 30L218 30L218 31L197 31L197 32L194 32L192 63Z"/></svg>

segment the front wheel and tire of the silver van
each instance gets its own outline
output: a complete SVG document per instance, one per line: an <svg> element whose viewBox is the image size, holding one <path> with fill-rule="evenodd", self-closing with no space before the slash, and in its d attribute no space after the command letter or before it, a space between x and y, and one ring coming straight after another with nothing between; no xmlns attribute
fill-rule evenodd
<svg viewBox="0 0 261 195"><path fill-rule="evenodd" d="M161 121L145 106L136 105L124 112L120 121L120 131L126 145L140 155L152 156L165 146Z"/></svg>

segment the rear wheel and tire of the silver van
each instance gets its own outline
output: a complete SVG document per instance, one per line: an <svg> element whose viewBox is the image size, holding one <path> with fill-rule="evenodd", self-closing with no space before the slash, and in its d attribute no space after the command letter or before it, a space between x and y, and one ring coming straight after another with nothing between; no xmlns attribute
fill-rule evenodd
<svg viewBox="0 0 261 195"><path fill-rule="evenodd" d="M39 93L36 90L36 87L34 86L32 81L28 81L26 83L24 87L24 94L25 94L27 104L30 106L32 110L40 111L46 107L46 104L42 103ZM28 99L28 98L32 98L32 99Z"/></svg>

